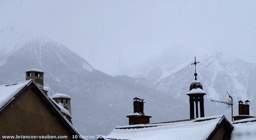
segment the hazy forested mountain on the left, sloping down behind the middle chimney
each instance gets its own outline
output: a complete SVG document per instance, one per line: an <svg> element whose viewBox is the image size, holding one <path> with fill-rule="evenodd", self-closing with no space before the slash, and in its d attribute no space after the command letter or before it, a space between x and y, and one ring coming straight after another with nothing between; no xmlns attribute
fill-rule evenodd
<svg viewBox="0 0 256 140"><path fill-rule="evenodd" d="M8 43L2 44L5 47ZM106 135L116 125L128 123L126 116L133 113L136 96L145 99L144 110L152 116L152 123L189 116L183 100L136 85L131 77L113 77L95 70L83 58L49 39L28 38L14 50L2 53L0 60L0 84L25 80L25 71L30 68L43 70L50 96L64 93L71 97L72 121L83 135Z"/></svg>

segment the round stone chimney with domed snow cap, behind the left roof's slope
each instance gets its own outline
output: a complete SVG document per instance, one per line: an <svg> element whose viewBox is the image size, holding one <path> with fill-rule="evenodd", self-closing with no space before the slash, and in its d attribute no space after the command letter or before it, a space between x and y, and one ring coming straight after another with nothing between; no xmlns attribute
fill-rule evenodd
<svg viewBox="0 0 256 140"><path fill-rule="evenodd" d="M71 102L70 102L71 98L68 95L57 93L52 96L52 99L57 104L64 107L64 109L66 109L71 115Z"/></svg>

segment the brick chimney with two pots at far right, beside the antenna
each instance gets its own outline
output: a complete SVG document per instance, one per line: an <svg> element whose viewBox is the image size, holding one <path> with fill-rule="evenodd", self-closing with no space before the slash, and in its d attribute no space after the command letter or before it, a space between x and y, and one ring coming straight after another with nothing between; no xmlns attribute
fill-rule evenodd
<svg viewBox="0 0 256 140"><path fill-rule="evenodd" d="M246 100L245 102L243 102L240 100L238 102L238 115L232 116L232 118L234 118L234 121L253 117L254 116L250 116L250 101Z"/></svg>

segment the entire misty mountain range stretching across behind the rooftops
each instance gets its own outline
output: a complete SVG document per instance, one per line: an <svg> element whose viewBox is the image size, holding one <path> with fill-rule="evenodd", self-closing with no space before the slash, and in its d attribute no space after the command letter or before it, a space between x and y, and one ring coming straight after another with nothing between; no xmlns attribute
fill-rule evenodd
<svg viewBox="0 0 256 140"><path fill-rule="evenodd" d="M1 31L1 36L7 37L0 40L0 49L4 50L0 55L0 84L25 80L25 71L30 68L43 70L49 96L64 93L71 97L72 122L81 134L106 135L113 127L128 124L126 116L133 113L134 97L145 99L144 110L152 116L151 123L189 118L186 93L194 80L193 59L145 67L148 70L134 77L110 76L50 38L15 29ZM159 58L155 63L168 58ZM224 114L231 119L230 109L210 101L225 101L228 88L234 99L233 114L238 114L237 102L248 99L254 115L256 64L222 52L198 57L197 61L197 79L207 93L205 116Z"/></svg>

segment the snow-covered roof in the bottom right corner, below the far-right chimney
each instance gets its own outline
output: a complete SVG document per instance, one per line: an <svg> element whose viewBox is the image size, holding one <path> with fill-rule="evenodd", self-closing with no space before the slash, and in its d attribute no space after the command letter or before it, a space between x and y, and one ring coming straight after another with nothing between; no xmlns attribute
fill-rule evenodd
<svg viewBox="0 0 256 140"><path fill-rule="evenodd" d="M231 140L255 140L256 138L256 118L248 118L233 121L234 129L231 133ZM247 122L244 122L247 121ZM241 122L241 123L239 123Z"/></svg>

